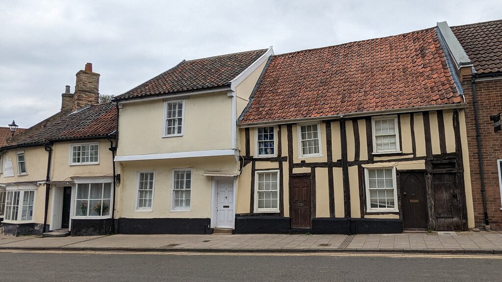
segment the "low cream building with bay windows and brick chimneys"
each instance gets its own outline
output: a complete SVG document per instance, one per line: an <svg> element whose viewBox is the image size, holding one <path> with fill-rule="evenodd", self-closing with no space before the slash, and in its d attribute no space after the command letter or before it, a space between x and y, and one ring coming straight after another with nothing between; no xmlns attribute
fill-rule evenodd
<svg viewBox="0 0 502 282"><path fill-rule="evenodd" d="M87 64L76 74L75 92L66 86L60 112L0 148L5 234L110 232L116 108L98 104L98 85Z"/></svg>

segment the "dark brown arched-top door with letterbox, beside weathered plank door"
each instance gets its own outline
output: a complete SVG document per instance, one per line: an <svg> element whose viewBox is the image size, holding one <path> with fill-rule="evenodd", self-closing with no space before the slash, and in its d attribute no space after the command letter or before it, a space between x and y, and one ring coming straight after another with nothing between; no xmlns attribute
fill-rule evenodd
<svg viewBox="0 0 502 282"><path fill-rule="evenodd" d="M407 229L427 228L427 198L424 173L401 172L401 214Z"/></svg>

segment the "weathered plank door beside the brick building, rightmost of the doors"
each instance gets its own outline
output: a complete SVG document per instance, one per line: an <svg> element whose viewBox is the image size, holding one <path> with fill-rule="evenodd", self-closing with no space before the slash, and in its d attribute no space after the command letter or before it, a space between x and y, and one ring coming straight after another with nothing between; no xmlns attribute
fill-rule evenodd
<svg viewBox="0 0 502 282"><path fill-rule="evenodd" d="M461 230L464 205L455 173L435 173L432 183L436 230Z"/></svg>

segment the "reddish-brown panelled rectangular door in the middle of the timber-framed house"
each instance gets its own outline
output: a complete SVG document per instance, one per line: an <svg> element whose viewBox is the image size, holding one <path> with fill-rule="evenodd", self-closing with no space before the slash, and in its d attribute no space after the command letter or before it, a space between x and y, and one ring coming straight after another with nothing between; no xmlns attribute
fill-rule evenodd
<svg viewBox="0 0 502 282"><path fill-rule="evenodd" d="M291 227L310 229L312 226L312 191L310 177L292 177L291 181Z"/></svg>

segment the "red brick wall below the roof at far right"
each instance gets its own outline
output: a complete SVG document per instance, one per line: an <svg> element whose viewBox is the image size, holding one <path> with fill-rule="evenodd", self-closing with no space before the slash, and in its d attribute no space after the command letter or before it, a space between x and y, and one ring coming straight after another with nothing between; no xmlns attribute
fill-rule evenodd
<svg viewBox="0 0 502 282"><path fill-rule="evenodd" d="M481 179L477 154L476 121L474 119L474 104L470 79L465 79L462 86L464 88L466 101L465 122L467 124L474 220L476 227L484 228L483 199L481 195ZM497 168L497 159L502 159L502 131L494 133L493 122L490 120L490 115L502 111L502 79L476 81L476 93L488 220L492 229L502 230L502 210L500 210L500 208L502 208L502 203L500 201L500 185Z"/></svg>

